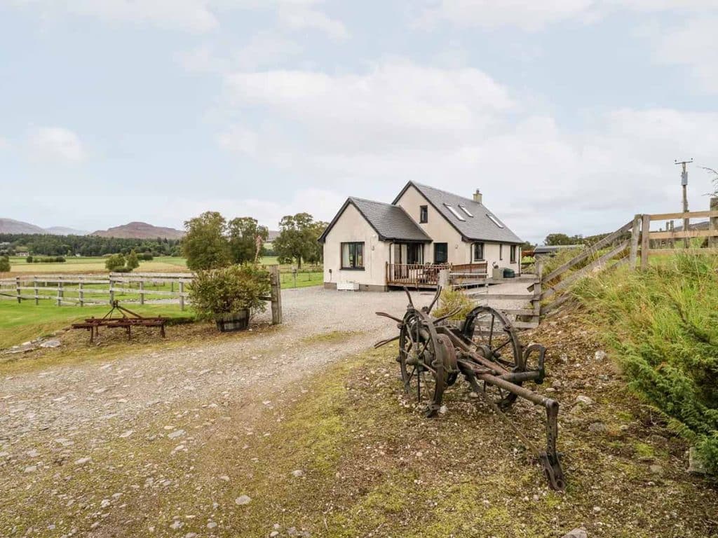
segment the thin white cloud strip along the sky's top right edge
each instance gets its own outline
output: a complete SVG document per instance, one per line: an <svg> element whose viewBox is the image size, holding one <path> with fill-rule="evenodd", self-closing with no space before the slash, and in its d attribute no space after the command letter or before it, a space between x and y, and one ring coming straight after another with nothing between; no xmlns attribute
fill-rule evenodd
<svg viewBox="0 0 718 538"><path fill-rule="evenodd" d="M461 27L518 27L537 30L567 19L591 22L608 14L634 11L703 11L715 9L714 0L439 0L416 19L419 27L447 21Z"/></svg>

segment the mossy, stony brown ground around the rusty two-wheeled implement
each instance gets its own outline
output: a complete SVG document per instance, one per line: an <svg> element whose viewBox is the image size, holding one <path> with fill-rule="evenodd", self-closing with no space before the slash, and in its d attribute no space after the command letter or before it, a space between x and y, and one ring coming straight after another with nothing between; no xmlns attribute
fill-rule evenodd
<svg viewBox="0 0 718 538"><path fill-rule="evenodd" d="M312 537L715 536L715 484L686 473L684 442L595 357L590 331L559 319L533 338L549 344L539 392L561 381L564 493L463 381L446 414L424 418L384 348L253 400L147 410L127 438L108 435L110 419L53 448L44 473L7 465L0 535L266 537L276 524ZM543 443L541 412L519 402L509 415ZM83 454L92 462L75 464Z"/></svg>

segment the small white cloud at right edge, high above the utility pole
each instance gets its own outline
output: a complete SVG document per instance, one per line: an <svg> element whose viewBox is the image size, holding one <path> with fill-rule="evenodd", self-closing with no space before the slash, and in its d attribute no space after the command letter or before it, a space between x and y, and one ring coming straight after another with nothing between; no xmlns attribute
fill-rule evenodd
<svg viewBox="0 0 718 538"><path fill-rule="evenodd" d="M718 93L717 29L718 11L713 17L687 19L677 27L653 32L653 57L659 63L685 65L699 90Z"/></svg>

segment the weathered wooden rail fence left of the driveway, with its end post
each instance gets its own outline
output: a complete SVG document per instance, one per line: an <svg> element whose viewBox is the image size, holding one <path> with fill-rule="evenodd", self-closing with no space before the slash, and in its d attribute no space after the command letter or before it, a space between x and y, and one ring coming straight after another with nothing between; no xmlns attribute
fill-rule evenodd
<svg viewBox="0 0 718 538"><path fill-rule="evenodd" d="M279 267L269 265L272 323L281 323L281 278ZM116 296L139 296L139 303L147 300L180 304L185 310L188 296L186 285L192 282L192 273L110 273L101 275L18 275L0 279L0 295L17 298L17 302L51 300L63 304L85 306L112 304ZM169 284L169 290L167 285ZM162 285L165 289L157 289ZM148 299L148 296L151 299Z"/></svg>

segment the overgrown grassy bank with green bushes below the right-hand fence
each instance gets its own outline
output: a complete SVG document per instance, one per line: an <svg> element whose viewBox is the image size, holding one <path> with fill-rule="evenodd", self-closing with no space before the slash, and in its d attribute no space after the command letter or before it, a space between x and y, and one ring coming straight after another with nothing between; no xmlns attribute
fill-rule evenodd
<svg viewBox="0 0 718 538"><path fill-rule="evenodd" d="M580 280L574 295L629 387L718 472L718 258L678 254L644 271Z"/></svg>

